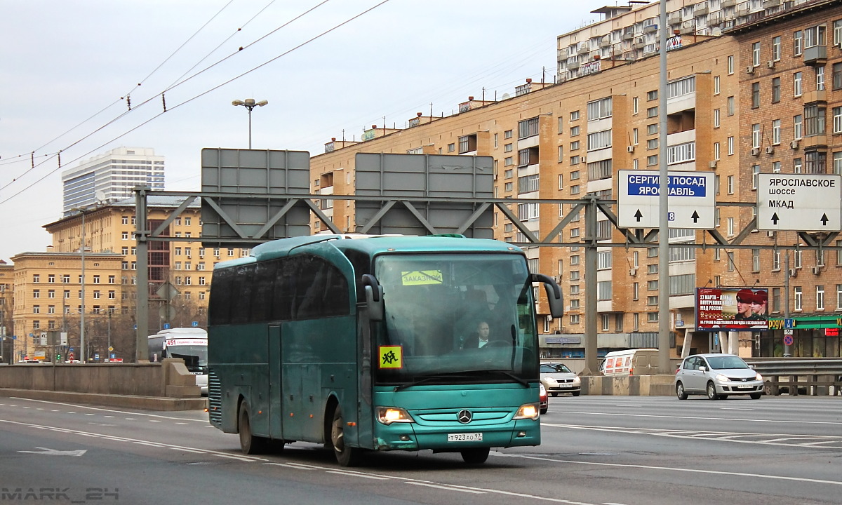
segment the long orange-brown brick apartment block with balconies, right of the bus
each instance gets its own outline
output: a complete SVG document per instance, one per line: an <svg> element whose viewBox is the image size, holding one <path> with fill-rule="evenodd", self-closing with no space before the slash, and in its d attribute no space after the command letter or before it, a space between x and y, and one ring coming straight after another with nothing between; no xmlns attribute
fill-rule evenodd
<svg viewBox="0 0 842 505"><path fill-rule="evenodd" d="M718 24L706 24L703 34L681 29L681 24L669 39L666 149L658 146L658 119L664 111L658 110L657 48L622 57L577 49L577 72L560 67L555 85L526 82L514 97L498 102L469 98L460 104L460 113L450 117L419 113L405 129L372 125L364 141L328 142L323 154L312 157L314 190L352 194L357 152L460 154L493 157L498 198L578 199L597 194L616 199L617 170L657 170L663 152L670 171L715 173L716 231L728 242L739 239L724 249L681 247L714 241L706 231L670 231L674 355L711 347L713 334L694 328L694 294L697 287L713 285L769 288L770 326L775 329L734 334L741 354L781 354L788 303L788 313L796 320L792 354L839 356L840 339L834 333L842 327L837 320L842 315L842 254L792 248L806 245L795 231L749 229L743 234L754 219L754 207L719 204L756 202L756 173L839 173L842 141L834 134L842 134L842 107L836 106L842 105L842 2L756 3L680 3L682 13L689 9ZM676 4L670 2L668 8ZM622 18L610 24L620 34L631 27L648 36L653 30L646 21L657 15L653 5L657 6L630 7L621 13L609 9L610 15ZM679 19L675 12L669 19ZM562 52L570 53L563 44L592 33L593 25L560 36L560 58ZM598 65L580 72L587 58ZM838 205L831 202L829 208ZM520 203L512 210L543 237L570 206ZM337 226L354 231L353 209L353 202L334 199L326 212ZM501 215L494 223L495 237L526 242ZM315 228L318 231L320 223ZM584 222L574 218L558 240L575 243L583 236ZM606 243L624 241L607 218L598 223L598 237ZM751 247L775 244L787 248ZM579 355L584 347L582 247L529 247L527 255L541 273L557 277L566 300L564 318L539 327L545 355ZM657 245L600 247L598 255L600 349L657 345L658 290L663 287L658 285ZM789 269L784 268L787 256Z"/></svg>

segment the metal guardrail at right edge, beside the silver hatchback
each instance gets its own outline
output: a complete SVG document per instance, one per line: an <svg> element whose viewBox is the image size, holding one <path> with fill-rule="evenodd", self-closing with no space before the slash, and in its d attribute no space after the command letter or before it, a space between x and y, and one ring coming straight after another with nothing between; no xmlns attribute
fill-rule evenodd
<svg viewBox="0 0 842 505"><path fill-rule="evenodd" d="M767 395L780 395L782 390L791 396L799 390L813 396L842 395L842 359L754 358L746 363L763 375Z"/></svg>

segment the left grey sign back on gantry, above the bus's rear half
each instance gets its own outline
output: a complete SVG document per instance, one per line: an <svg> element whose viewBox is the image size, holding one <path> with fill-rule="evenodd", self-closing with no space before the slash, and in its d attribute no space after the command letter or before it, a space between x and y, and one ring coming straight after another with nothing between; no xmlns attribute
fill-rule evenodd
<svg viewBox="0 0 842 505"><path fill-rule="evenodd" d="M202 243L206 246L232 245L240 235L255 237L266 223L287 203L280 199L237 197L255 194L310 194L310 153L307 151L272 151L248 149L202 149L202 192L224 193L213 199L231 222L202 199ZM310 210L303 203L295 205L261 237L274 240L310 234Z"/></svg>

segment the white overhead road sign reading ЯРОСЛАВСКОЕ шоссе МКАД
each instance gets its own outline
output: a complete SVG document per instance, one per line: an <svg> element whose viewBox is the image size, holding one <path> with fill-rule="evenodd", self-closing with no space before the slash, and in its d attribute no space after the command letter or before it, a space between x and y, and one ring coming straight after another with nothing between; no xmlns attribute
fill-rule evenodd
<svg viewBox="0 0 842 505"><path fill-rule="evenodd" d="M759 230L842 230L842 176L825 173L757 174Z"/></svg>

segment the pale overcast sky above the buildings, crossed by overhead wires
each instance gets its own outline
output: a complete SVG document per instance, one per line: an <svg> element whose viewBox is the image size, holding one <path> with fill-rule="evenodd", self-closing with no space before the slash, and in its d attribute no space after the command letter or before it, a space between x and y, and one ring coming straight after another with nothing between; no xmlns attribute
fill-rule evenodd
<svg viewBox="0 0 842 505"><path fill-rule="evenodd" d="M315 155L384 117L402 128L483 89L493 99L527 77L552 82L556 36L614 3L5 0L0 259L45 250L61 171L80 161L152 147L167 189L199 190L203 147L248 147L234 99L269 101L253 111L253 148Z"/></svg>

